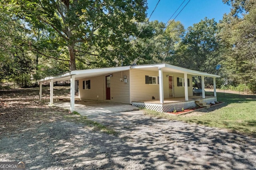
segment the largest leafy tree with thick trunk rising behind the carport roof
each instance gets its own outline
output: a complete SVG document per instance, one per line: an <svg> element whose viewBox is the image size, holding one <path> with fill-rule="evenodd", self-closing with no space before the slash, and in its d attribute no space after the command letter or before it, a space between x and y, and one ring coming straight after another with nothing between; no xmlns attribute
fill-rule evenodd
<svg viewBox="0 0 256 170"><path fill-rule="evenodd" d="M69 54L70 70L76 70L78 46L83 53L96 59L105 57L104 62L111 63L109 47L122 48L123 44L128 43L129 36L136 32L135 21L142 21L146 16L146 0L7 2L11 10L28 22L30 27L40 28L44 25L58 33L58 43L64 45Z"/></svg>

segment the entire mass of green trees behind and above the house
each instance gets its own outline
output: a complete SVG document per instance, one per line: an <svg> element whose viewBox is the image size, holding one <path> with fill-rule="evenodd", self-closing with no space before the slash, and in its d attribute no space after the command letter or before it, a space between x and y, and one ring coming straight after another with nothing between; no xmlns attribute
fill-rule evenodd
<svg viewBox="0 0 256 170"><path fill-rule="evenodd" d="M68 70L133 63L216 74L221 64L229 84L256 92L256 2L223 2L231 11L219 23L204 18L185 29L180 21L148 21L146 0L2 0L0 78L25 86Z"/></svg>

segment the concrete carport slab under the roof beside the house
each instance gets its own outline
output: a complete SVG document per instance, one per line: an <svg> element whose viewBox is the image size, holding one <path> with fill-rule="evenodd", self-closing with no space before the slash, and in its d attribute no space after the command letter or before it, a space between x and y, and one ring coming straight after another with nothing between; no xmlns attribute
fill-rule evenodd
<svg viewBox="0 0 256 170"><path fill-rule="evenodd" d="M64 109L70 109L70 102L56 102L57 107ZM76 101L75 111L83 116L95 116L106 113L118 113L125 111L138 110L138 107L130 104L110 103L110 102L98 102L98 101Z"/></svg>

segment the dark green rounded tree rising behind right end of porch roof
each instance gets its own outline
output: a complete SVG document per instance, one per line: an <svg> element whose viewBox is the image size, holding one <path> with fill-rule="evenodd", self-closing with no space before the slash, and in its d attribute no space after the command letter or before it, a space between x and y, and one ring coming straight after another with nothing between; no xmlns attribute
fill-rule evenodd
<svg viewBox="0 0 256 170"><path fill-rule="evenodd" d="M215 73L220 62L220 43L216 34L218 27L214 19L205 18L188 27L182 43L176 50L174 60L178 66ZM194 77L200 87L201 78Z"/></svg>

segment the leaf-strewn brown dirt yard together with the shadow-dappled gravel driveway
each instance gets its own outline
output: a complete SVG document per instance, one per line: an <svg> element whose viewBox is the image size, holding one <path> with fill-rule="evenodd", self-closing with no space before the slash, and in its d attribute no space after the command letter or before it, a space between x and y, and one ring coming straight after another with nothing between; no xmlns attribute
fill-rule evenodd
<svg viewBox="0 0 256 170"><path fill-rule="evenodd" d="M56 88L54 94L66 96L68 90ZM0 161L24 161L31 170L256 167L254 137L121 113L101 115L112 117L108 127L117 135L109 135L38 98L36 88L0 91Z"/></svg>

